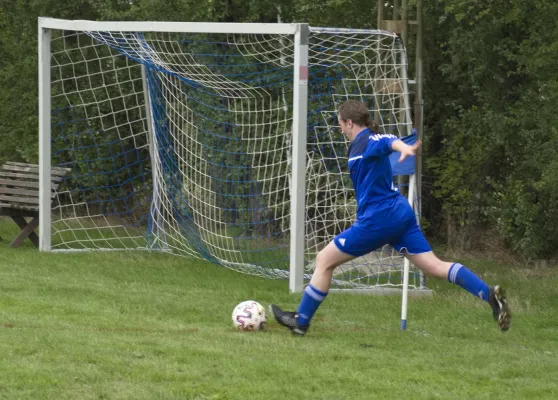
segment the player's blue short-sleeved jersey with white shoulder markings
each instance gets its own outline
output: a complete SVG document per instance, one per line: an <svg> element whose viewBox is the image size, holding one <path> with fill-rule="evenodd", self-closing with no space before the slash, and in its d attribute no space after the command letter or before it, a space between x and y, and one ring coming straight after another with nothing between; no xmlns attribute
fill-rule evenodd
<svg viewBox="0 0 558 400"><path fill-rule="evenodd" d="M393 185L389 154L398 138L364 129L349 146L349 172L357 201L357 223L390 225L414 218L414 213Z"/></svg>

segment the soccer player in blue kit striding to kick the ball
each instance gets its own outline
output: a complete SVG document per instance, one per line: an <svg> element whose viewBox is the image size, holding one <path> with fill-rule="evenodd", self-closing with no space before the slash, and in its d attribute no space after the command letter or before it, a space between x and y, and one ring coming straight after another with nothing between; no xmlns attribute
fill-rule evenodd
<svg viewBox="0 0 558 400"><path fill-rule="evenodd" d="M399 162L402 162L415 155L420 141L410 146L394 135L374 132L370 127L375 123L370 119L368 108L358 101L343 103L337 118L341 131L351 142L348 158L358 206L356 222L316 256L314 274L297 312L283 311L274 304L270 306L277 322L294 334L306 334L312 317L327 296L335 267L390 244L425 274L448 279L486 301L500 329L507 331L511 313L502 288L488 286L460 263L436 257L409 202L393 186L389 154L401 153Z"/></svg>

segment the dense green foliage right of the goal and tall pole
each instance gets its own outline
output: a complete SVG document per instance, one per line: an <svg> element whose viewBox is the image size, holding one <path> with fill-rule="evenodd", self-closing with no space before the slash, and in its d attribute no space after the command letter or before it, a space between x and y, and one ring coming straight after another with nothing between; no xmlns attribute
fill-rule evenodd
<svg viewBox="0 0 558 400"><path fill-rule="evenodd" d="M489 227L526 257L556 255L558 6L426 7L426 175L438 211L465 236Z"/></svg>

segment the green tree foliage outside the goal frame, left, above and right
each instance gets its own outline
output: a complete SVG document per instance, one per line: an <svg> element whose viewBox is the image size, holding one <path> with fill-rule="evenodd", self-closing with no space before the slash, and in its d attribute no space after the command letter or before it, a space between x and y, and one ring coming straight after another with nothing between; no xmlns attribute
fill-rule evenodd
<svg viewBox="0 0 558 400"><path fill-rule="evenodd" d="M432 232L452 224L473 245L471 235L490 228L525 257L556 256L558 3L423 4L424 183L432 188L423 205ZM275 22L278 10L285 22L376 24L376 2L366 0L0 0L0 162L37 161L39 16Z"/></svg>

